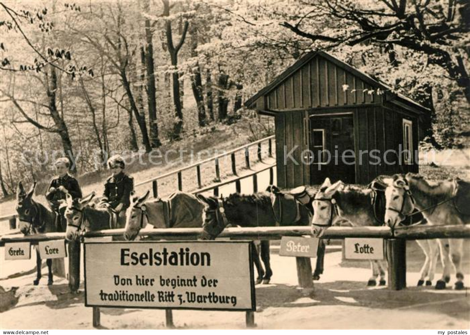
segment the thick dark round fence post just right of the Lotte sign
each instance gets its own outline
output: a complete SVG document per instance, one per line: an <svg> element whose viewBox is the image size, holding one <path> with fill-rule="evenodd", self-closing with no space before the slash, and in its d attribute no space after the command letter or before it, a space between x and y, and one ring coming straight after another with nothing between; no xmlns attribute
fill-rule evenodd
<svg viewBox="0 0 470 335"><path fill-rule="evenodd" d="M407 287L407 249L404 239L385 240L388 262L388 289L399 290Z"/></svg>

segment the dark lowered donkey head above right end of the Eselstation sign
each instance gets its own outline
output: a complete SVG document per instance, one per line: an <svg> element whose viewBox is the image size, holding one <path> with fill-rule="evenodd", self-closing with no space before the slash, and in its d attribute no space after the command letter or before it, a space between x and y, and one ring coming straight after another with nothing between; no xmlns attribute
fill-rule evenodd
<svg viewBox="0 0 470 335"><path fill-rule="evenodd" d="M206 206L203 212L203 233L199 238L213 240L227 226L223 198L220 202L216 198L205 198L202 194L197 194L196 198Z"/></svg>

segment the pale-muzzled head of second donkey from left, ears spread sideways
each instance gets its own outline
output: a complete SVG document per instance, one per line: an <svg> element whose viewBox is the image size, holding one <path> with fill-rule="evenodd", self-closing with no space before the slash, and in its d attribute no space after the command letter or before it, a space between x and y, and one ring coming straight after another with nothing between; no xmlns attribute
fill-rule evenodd
<svg viewBox="0 0 470 335"><path fill-rule="evenodd" d="M82 199L72 199L70 194L67 194L67 207L65 209L65 219L67 220L67 230L65 231L65 239L67 241L76 240L79 237L81 230L85 229L85 206L93 199L95 193Z"/></svg>

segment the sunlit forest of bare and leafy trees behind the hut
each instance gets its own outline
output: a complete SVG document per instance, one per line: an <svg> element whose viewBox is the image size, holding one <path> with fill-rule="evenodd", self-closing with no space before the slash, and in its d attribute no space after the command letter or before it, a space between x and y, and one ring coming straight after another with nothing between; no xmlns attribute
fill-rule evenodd
<svg viewBox="0 0 470 335"><path fill-rule="evenodd" d="M83 174L103 168L97 155L253 116L243 101L311 50L431 108L423 147L468 144L468 1L1 1L0 13L3 195L52 175L37 153L79 156Z"/></svg>

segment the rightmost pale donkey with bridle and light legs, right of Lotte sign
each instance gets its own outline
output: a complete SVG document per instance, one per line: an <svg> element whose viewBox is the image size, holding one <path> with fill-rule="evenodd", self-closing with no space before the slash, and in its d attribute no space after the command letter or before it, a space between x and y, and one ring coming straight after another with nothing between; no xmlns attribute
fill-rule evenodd
<svg viewBox="0 0 470 335"><path fill-rule="evenodd" d="M470 183L458 178L431 185L420 175L393 175L385 180L387 189L385 222L394 229L399 222L414 215L416 209L423 213L430 225L463 225L470 223ZM439 239L442 278L436 289L445 289L450 281L451 268L456 273L455 289L464 289L462 239Z"/></svg>

